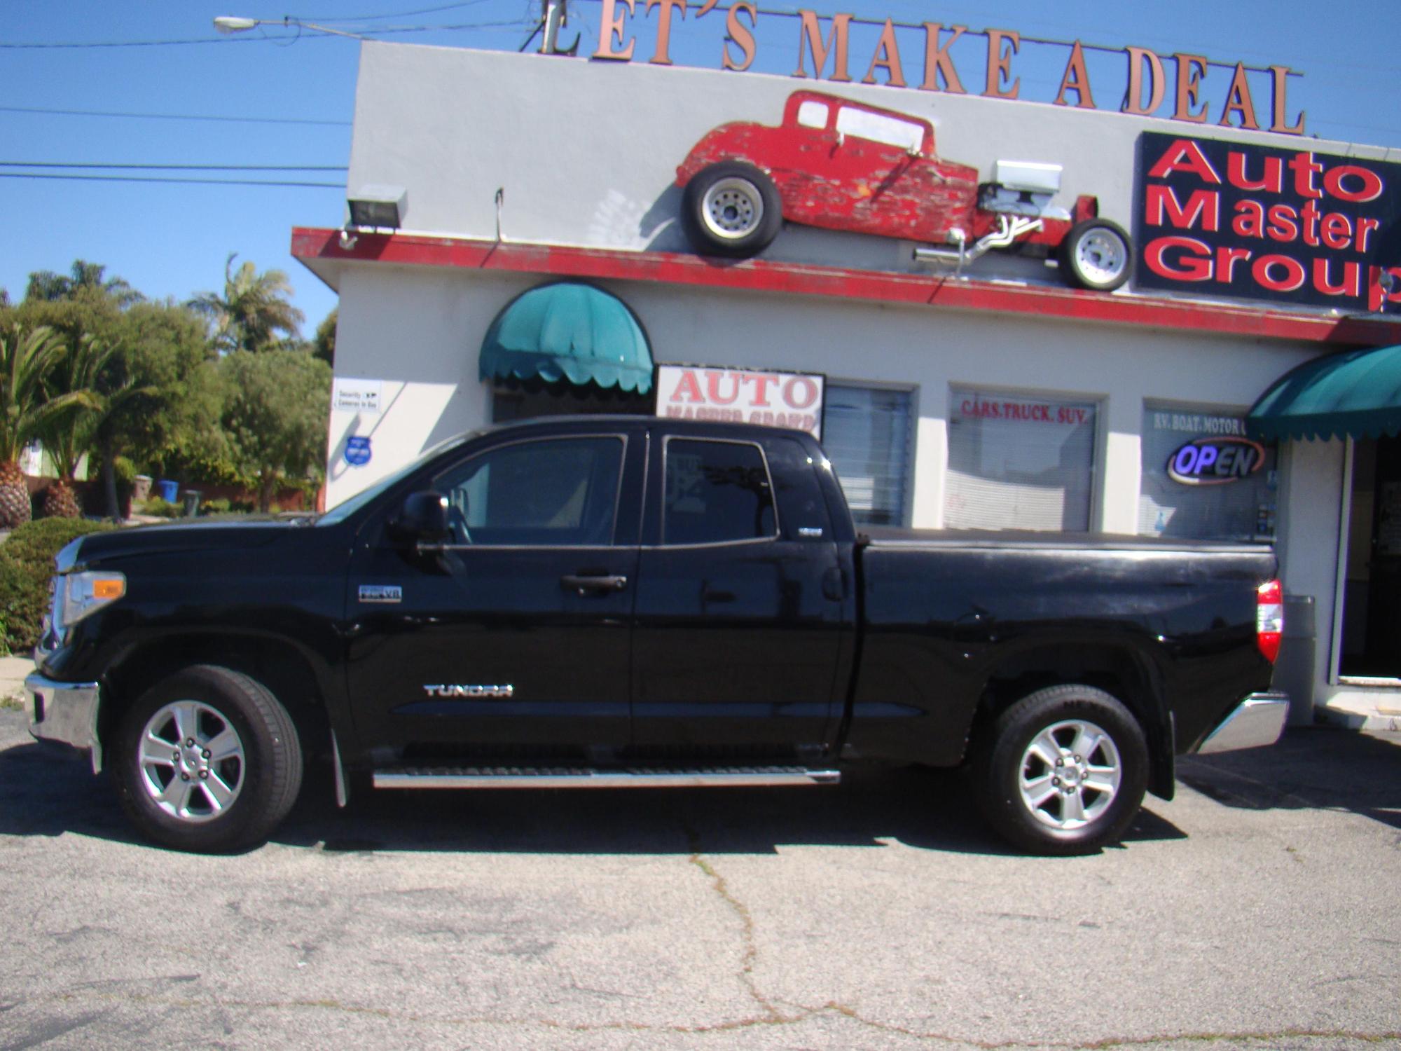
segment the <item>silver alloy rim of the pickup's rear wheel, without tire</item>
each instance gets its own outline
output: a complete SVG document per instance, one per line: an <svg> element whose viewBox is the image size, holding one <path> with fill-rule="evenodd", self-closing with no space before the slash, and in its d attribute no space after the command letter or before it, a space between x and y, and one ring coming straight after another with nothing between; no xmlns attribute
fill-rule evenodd
<svg viewBox="0 0 1401 1051"><path fill-rule="evenodd" d="M1124 778L1114 740L1083 719L1054 723L1021 755L1021 802L1051 828L1083 828L1110 809Z"/></svg>

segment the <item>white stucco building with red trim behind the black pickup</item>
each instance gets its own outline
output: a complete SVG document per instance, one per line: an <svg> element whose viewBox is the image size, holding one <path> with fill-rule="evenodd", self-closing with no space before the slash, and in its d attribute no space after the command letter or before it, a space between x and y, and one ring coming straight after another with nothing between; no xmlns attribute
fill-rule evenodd
<svg viewBox="0 0 1401 1051"><path fill-rule="evenodd" d="M864 104L932 125L936 151L906 144L897 161L869 153L869 178L842 177L863 199L857 207L895 193L932 153L976 168L979 182L993 179L999 160L1058 165L1051 205L1063 212L1055 214L1070 217L1077 198L1093 198L1100 217L1132 231L1138 272L1115 291L1069 289L1055 251L1049 259L989 251L960 270L916 259L929 244L915 238L807 221L783 224L752 259L698 254L681 221L688 205L677 167L726 123L778 135L800 90L831 95L834 108ZM813 118L783 139L794 168L810 164L801 140L820 137L818 125ZM850 128L827 129L827 161L850 160L864 135L880 135ZM1170 156L1188 140L1208 143L1201 156L1220 189L1198 154ZM1244 150L1244 161L1220 161L1213 143ZM1288 163L1302 149L1320 170L1290 182ZM1344 154L1356 171L1328 175ZM1226 185L1227 164L1243 165L1234 182L1257 184L1250 192L1268 196L1267 207L1293 207L1300 227L1293 238L1247 231L1258 251L1240 255L1236 270L1230 252L1245 249L1223 238L1233 220L1240 233L1248 209L1237 199L1247 191ZM1034 102L366 43L347 191L398 198L396 228L294 231L296 255L340 294L328 502L495 420L559 409L665 412L653 366L702 367L696 385L672 399L691 411L754 411L738 397L737 373L815 376L822 439L860 518L1274 541L1285 590L1297 597L1281 667L1299 701L1293 717L1311 717L1310 705L1386 717L1401 712L1398 440L1344 429L1271 443L1251 437L1245 415L1296 366L1401 343L1384 277L1401 263L1383 214L1401 193L1391 185L1397 171L1380 150ZM1380 196L1369 196L1373 177ZM1194 213L1198 184L1206 196ZM1300 207L1290 195L1314 189L1320 206L1346 213L1346 238L1342 220L1330 227L1324 213L1309 235L1307 202ZM1381 219L1366 230L1359 216L1369 207ZM976 231L964 233L971 244ZM1150 241L1156 255L1145 265ZM934 247L948 254L955 241ZM1325 284L1344 289L1327 293L1338 298L1334 308L1290 300L1290 261L1317 290L1318 258L1337 262L1323 270ZM1209 277L1202 261L1215 268ZM1236 284L1254 279L1268 298L1227 287L1226 270ZM1352 277L1358 287L1348 290ZM623 355L642 390L598 371L616 329L597 318L597 346L580 345L587 317L563 345L558 331L538 346L503 343L503 325L521 321L510 312L525 303L518 297L559 283L605 293L600 310L625 305L650 359ZM1369 294L1380 296L1380 310L1369 308ZM552 308L560 310L532 307ZM544 332L537 314L525 328ZM503 364L503 355L525 357ZM573 378L560 371L572 356ZM713 391L703 390L706 370L716 374ZM1203 481L1213 483L1192 483Z"/></svg>

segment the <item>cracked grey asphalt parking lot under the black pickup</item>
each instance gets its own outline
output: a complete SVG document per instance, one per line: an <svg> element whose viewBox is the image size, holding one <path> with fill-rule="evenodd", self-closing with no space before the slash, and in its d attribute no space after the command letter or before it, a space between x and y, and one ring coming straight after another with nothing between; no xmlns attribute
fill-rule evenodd
<svg viewBox="0 0 1401 1051"><path fill-rule="evenodd" d="M1189 760L1122 848L961 781L377 793L171 853L0 710L0 1048L1401 1043L1401 734Z"/></svg>

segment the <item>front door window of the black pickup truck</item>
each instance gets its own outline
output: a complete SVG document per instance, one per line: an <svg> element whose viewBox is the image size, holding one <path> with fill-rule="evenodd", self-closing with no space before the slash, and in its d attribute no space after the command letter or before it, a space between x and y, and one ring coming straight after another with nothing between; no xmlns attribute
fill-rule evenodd
<svg viewBox="0 0 1401 1051"><path fill-rule="evenodd" d="M566 437L493 448L436 479L458 544L612 542L622 439Z"/></svg>

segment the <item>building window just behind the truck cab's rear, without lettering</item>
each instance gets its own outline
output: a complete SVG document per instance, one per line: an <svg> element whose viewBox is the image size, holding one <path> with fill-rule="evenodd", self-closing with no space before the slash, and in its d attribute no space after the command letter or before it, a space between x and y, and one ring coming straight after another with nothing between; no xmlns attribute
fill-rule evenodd
<svg viewBox="0 0 1401 1051"><path fill-rule="evenodd" d="M901 526L909 492L909 391L827 384L822 447L862 526Z"/></svg>

